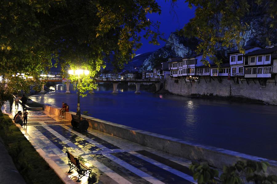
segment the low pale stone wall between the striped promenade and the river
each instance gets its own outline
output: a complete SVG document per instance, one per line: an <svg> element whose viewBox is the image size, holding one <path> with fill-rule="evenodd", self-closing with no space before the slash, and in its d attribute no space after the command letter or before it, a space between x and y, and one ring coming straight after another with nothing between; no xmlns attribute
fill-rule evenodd
<svg viewBox="0 0 277 184"><path fill-rule="evenodd" d="M58 107L44 105L44 110L52 114L59 115ZM66 119L69 121L71 121L71 114L76 115L75 112L66 112ZM190 160L207 161L210 166L220 169L223 169L224 165L229 166L239 160L254 160L257 162L263 160L271 165L267 169L268 174L277 173L277 161L274 160L264 159L217 147L195 144L182 139L159 135L86 115L82 115L82 118L89 122L90 128L98 131Z"/></svg>

